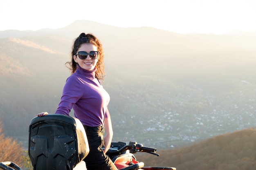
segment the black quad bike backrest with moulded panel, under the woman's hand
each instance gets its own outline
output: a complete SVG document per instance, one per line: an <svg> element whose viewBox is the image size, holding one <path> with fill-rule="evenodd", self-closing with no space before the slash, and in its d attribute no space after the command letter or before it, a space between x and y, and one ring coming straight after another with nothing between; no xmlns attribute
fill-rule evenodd
<svg viewBox="0 0 256 170"><path fill-rule="evenodd" d="M31 120L28 152L34 170L86 170L89 145L81 121L52 114Z"/></svg>

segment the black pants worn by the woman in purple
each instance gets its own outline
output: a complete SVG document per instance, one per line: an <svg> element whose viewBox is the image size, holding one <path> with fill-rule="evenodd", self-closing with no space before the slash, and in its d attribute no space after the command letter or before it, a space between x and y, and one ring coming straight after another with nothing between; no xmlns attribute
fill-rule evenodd
<svg viewBox="0 0 256 170"><path fill-rule="evenodd" d="M83 161L88 170L118 170L111 159L103 152L101 146L104 145L102 126L89 127L84 126L88 139L90 152Z"/></svg>

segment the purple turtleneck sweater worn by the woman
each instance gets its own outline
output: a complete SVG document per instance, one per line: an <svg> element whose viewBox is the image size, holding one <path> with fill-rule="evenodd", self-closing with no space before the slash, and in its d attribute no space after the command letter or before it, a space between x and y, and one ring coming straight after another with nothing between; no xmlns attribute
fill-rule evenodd
<svg viewBox="0 0 256 170"><path fill-rule="evenodd" d="M103 126L108 117L107 106L110 96L95 78L95 71L87 71L77 64L76 72L67 78L61 102L55 114L69 115L73 108L74 116L83 125Z"/></svg>

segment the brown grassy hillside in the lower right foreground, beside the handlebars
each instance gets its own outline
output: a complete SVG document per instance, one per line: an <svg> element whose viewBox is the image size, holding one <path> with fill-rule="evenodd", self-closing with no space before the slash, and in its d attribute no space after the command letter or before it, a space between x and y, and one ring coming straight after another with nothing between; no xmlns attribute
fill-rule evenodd
<svg viewBox="0 0 256 170"><path fill-rule="evenodd" d="M175 150L161 150L159 157L135 155L145 166L171 166L177 170L254 170L256 130L245 129L219 135L199 144Z"/></svg>

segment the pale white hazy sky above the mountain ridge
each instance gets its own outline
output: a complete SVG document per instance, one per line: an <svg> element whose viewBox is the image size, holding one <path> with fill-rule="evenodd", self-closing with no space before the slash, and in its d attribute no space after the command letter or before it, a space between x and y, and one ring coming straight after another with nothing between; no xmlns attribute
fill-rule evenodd
<svg viewBox="0 0 256 170"><path fill-rule="evenodd" d="M0 31L57 29L75 20L176 33L256 31L256 0L0 0Z"/></svg>

